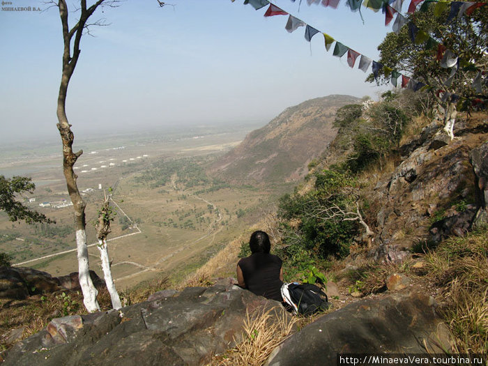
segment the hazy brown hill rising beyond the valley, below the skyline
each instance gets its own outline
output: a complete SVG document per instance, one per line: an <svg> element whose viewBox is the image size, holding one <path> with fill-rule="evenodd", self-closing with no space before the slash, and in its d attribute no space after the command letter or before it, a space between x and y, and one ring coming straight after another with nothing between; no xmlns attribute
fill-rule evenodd
<svg viewBox="0 0 488 366"><path fill-rule="evenodd" d="M353 96L331 95L289 107L263 128L211 165L209 172L234 183L298 181L307 165L335 138L335 112L359 102Z"/></svg>

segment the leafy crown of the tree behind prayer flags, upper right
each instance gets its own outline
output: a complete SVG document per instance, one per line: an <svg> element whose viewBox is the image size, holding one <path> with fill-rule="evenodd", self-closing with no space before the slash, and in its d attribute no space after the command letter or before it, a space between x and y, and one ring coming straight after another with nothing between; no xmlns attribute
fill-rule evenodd
<svg viewBox="0 0 488 366"><path fill-rule="evenodd" d="M475 97L475 90L471 82L478 70L486 70L488 65L488 12L484 9L475 10L474 13L463 17L454 17L447 22L449 10L441 16L434 15L434 6L428 7L424 3L422 10L408 15L408 21L415 24L420 31L428 33L431 37L425 41L413 43L409 36L409 26L404 26L399 33L388 33L379 45L380 60L384 66L397 70L399 73L411 75L417 82L423 82L432 87L434 94L439 89L449 89L462 98ZM432 41L434 40L434 41ZM441 68L437 61L438 44L442 44L459 56L459 70L452 79L450 87L443 83L450 77L450 69ZM373 82L373 75L367 81ZM380 70L381 83L390 81L390 71ZM487 89L483 91L485 98Z"/></svg>

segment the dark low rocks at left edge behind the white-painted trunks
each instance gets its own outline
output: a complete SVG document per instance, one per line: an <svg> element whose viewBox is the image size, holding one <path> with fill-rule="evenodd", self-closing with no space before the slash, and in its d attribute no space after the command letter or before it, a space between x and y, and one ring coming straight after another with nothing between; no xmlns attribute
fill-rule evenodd
<svg viewBox="0 0 488 366"><path fill-rule="evenodd" d="M90 276L98 289L105 286L105 282L93 270L90 270ZM33 268L0 266L0 298L24 300L31 295L63 289L80 289L77 272L52 277L49 273Z"/></svg>

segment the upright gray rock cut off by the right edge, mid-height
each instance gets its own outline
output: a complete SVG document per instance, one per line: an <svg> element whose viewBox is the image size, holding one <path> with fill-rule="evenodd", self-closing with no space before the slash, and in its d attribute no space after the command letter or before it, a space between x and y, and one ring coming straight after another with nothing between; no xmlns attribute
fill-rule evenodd
<svg viewBox="0 0 488 366"><path fill-rule="evenodd" d="M475 225L488 223L488 141L474 148L469 154L469 160L475 172L475 200L478 212Z"/></svg>

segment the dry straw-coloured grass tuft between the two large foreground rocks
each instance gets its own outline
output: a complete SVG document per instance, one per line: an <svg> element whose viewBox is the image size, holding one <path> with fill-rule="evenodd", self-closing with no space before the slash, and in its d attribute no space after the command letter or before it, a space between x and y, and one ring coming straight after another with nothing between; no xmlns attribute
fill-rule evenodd
<svg viewBox="0 0 488 366"><path fill-rule="evenodd" d="M211 365L263 365L270 353L291 335L297 322L298 318L285 312L279 315L275 309L260 312L255 317L247 313L243 342L222 356L214 356Z"/></svg>

